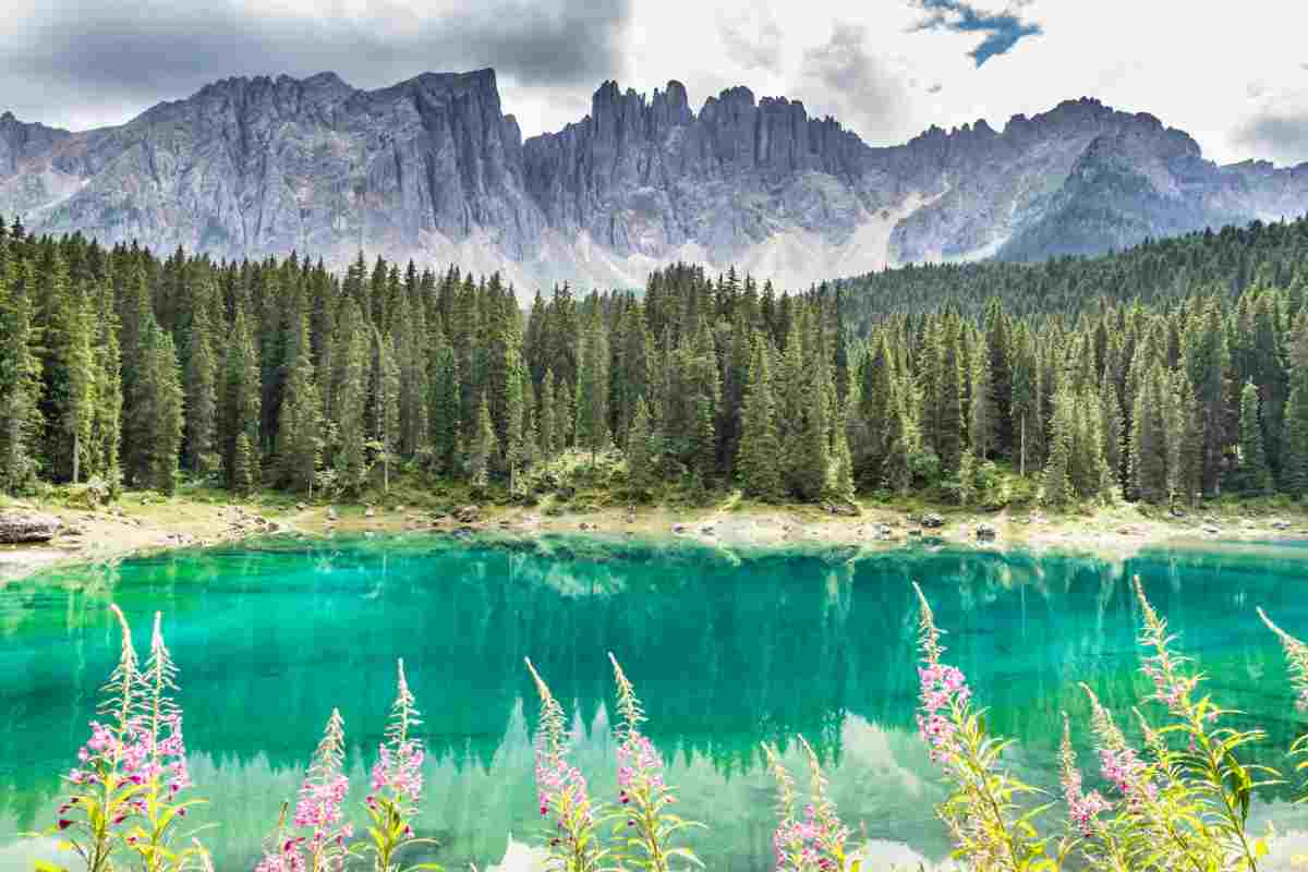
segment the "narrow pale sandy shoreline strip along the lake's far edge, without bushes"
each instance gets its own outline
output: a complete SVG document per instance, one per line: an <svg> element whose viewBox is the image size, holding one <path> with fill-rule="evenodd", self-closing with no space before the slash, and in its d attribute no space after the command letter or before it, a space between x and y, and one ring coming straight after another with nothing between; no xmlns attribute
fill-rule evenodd
<svg viewBox="0 0 1308 872"><path fill-rule="evenodd" d="M0 546L0 587L34 573L148 556L178 548L230 545L247 539L296 535L328 539L345 535L433 532L504 535L510 539L582 536L596 540L683 541L727 550L770 550L811 546L882 552L913 541L977 549L1061 552L1105 560L1126 560L1155 546L1196 548L1308 541L1308 515L1279 512L1253 516L1253 510L1230 509L1185 518L1154 518L1134 505L1097 510L1093 515L1045 515L1010 510L986 514L935 507L940 528L923 528L918 512L865 503L858 515L824 511L816 505L759 505L727 502L717 507L672 509L638 506L582 512L543 511L542 507L477 507L472 518L462 509L446 514L403 505L306 506L297 503L211 503L186 497L133 499L97 511L20 503L13 510L39 511L60 519L50 543ZM980 540L978 527L993 531Z"/></svg>

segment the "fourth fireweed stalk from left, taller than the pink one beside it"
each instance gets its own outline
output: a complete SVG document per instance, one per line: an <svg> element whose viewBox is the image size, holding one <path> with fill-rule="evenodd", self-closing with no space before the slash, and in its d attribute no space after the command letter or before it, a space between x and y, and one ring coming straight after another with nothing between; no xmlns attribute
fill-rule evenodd
<svg viewBox="0 0 1308 872"><path fill-rule="evenodd" d="M369 841L354 846L351 854L371 858L374 872L398 872L396 858L405 847L428 843L430 839L413 838L409 821L417 814L422 799L422 740L412 735L422 720L416 699L408 688L404 675L404 660L396 664L395 702L391 705L391 720L386 727L386 741L378 748L379 760L373 766L371 784L364 809L371 818L368 828ZM404 867L413 869L439 869L434 863L417 863Z"/></svg>

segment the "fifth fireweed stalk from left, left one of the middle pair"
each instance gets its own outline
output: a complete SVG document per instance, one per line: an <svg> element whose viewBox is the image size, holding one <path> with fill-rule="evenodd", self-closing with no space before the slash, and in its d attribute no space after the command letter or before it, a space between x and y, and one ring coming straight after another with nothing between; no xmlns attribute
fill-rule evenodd
<svg viewBox="0 0 1308 872"><path fill-rule="evenodd" d="M552 821L543 833L549 851L548 868L551 872L598 872L608 855L596 834L603 809L591 797L586 777L568 761L562 706L530 659L527 671L540 694L536 791L540 794L540 817Z"/></svg>

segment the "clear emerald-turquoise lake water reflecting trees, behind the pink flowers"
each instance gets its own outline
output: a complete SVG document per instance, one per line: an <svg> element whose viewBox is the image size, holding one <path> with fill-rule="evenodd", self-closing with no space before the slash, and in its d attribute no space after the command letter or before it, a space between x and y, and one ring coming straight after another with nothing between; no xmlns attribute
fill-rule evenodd
<svg viewBox="0 0 1308 872"><path fill-rule="evenodd" d="M909 580L951 630L948 659L991 707L994 729L1018 740L1011 766L1052 786L1059 713L1082 726L1087 714L1076 681L1118 710L1147 693L1133 574L1218 698L1269 731L1261 761L1281 765L1304 724L1253 609L1308 635L1304 549L1159 550L1112 563L930 546L740 557L678 544L396 537L46 574L0 588L0 868L30 868L41 850L21 834L51 822L58 774L85 739L118 647L110 601L140 637L164 612L196 794L217 800L200 817L218 825L208 842L220 869L252 867L332 706L362 784L399 656L432 750L419 829L439 841L447 869L501 863L539 826L538 707L523 658L569 706L594 790L613 794L613 651L649 710L681 812L712 826L696 848L710 869L755 872L769 865L772 828L759 743L795 733L828 761L855 831L929 859L947 854L930 811L942 791L913 727ZM1264 791L1258 814L1292 820L1290 795Z"/></svg>

